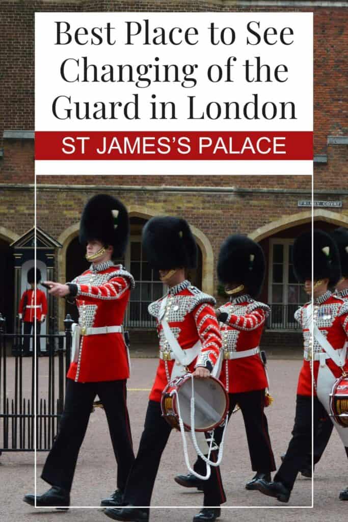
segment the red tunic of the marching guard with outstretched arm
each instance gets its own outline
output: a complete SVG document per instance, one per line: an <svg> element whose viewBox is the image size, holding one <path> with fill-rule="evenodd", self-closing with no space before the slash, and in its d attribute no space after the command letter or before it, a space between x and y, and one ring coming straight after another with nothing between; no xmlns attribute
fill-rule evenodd
<svg viewBox="0 0 348 522"><path fill-rule="evenodd" d="M122 265L112 262L91 265L73 281L81 327L122 325L134 288L133 276ZM116 381L129 377L127 350L123 334L81 336L78 362L70 364L67 377L75 382Z"/></svg>

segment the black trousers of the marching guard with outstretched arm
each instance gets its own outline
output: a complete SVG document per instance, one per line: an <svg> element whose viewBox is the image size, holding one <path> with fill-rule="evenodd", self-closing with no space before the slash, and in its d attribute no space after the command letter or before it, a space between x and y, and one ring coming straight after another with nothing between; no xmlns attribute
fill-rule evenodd
<svg viewBox="0 0 348 522"><path fill-rule="evenodd" d="M134 462L127 410L126 379L99 383L66 382L64 411L56 440L42 470L41 478L70 491L79 449L85 437L93 401L98 395L106 413L117 461L117 488L124 490ZM103 448L96 448L102 451Z"/></svg>

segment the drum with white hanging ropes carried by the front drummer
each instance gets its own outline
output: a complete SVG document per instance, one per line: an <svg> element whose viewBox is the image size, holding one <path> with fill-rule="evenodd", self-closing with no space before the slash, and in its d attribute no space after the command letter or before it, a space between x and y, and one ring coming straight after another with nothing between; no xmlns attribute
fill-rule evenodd
<svg viewBox="0 0 348 522"><path fill-rule="evenodd" d="M191 431L192 377L176 377L162 392L161 409L165 420L180 430L179 411L185 431ZM219 379L194 378L195 431L212 431L225 420L229 410L229 395Z"/></svg>

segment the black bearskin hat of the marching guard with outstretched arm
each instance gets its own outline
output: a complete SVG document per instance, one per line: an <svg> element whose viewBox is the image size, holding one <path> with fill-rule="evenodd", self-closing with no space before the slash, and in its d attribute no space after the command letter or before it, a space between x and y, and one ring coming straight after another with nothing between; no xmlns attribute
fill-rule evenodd
<svg viewBox="0 0 348 522"><path fill-rule="evenodd" d="M87 201L80 221L79 241L100 241L113 246L113 257L121 257L128 243L129 219L126 207L109 194L97 194Z"/></svg>

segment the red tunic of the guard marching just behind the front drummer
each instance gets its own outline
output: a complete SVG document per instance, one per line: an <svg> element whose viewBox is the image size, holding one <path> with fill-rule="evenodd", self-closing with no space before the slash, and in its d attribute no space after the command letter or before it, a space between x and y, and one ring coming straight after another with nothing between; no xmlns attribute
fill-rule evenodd
<svg viewBox="0 0 348 522"><path fill-rule="evenodd" d="M227 313L225 323L220 323L223 348L226 352L243 352L257 348L269 314L266 304L254 301L249 295L241 295L219 308ZM260 354L238 359L226 359L222 364L220 381L226 386L228 373L229 393L252 392L267 388L265 368Z"/></svg>

